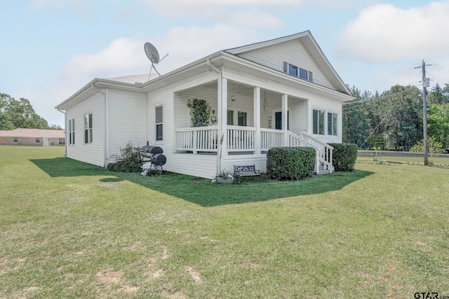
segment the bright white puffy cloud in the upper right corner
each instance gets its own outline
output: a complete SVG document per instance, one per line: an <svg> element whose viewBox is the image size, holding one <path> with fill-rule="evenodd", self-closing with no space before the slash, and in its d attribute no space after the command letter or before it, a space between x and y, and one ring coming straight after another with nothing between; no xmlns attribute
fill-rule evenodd
<svg viewBox="0 0 449 299"><path fill-rule="evenodd" d="M342 30L340 55L367 62L393 62L449 52L449 1L403 10L391 5L364 9Z"/></svg>

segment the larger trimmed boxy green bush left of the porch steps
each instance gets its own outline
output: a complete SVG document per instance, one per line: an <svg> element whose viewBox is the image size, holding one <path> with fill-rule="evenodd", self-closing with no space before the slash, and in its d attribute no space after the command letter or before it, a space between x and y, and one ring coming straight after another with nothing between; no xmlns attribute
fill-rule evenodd
<svg viewBox="0 0 449 299"><path fill-rule="evenodd" d="M267 152L267 175L278 180L303 179L314 174L315 160L314 148L270 148Z"/></svg>

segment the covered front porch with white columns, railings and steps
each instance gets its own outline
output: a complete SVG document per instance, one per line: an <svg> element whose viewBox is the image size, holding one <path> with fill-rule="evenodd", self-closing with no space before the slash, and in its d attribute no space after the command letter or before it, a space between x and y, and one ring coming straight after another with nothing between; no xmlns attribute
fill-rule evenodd
<svg viewBox="0 0 449 299"><path fill-rule="evenodd" d="M207 123L192 126L192 99L208 106ZM269 148L311 146L316 149L316 169L332 172L332 147L308 134L308 99L279 90L228 80L203 83L175 92L173 152L216 155L216 171L232 164L266 160ZM188 159L186 157L186 159Z"/></svg>

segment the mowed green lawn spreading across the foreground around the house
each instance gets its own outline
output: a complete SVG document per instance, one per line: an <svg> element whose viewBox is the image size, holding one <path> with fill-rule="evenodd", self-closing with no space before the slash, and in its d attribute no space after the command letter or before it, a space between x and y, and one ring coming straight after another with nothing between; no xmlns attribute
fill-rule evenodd
<svg viewBox="0 0 449 299"><path fill-rule="evenodd" d="M0 298L449 295L449 169L241 185L0 146Z"/></svg>

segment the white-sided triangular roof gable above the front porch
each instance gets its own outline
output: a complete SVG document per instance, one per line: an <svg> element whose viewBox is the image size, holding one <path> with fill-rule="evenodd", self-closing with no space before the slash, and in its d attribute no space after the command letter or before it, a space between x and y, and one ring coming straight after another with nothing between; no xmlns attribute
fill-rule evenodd
<svg viewBox="0 0 449 299"><path fill-rule="evenodd" d="M284 71L284 62L293 64L314 76L314 83L351 95L309 31L232 48L225 52Z"/></svg>

